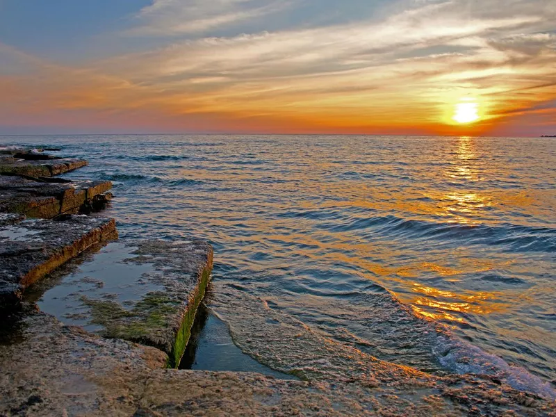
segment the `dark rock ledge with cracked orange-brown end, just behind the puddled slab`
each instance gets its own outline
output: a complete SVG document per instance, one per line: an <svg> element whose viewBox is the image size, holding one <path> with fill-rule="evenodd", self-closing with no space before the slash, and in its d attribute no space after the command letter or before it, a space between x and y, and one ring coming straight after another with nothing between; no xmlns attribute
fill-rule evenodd
<svg viewBox="0 0 556 417"><path fill-rule="evenodd" d="M63 181L63 180L58 180ZM111 200L110 181L65 181L0 175L0 211L30 218L90 213Z"/></svg>

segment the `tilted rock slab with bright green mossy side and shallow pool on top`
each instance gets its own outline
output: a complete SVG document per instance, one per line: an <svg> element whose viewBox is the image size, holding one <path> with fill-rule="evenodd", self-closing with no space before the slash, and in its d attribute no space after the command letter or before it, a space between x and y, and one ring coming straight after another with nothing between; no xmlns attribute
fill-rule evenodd
<svg viewBox="0 0 556 417"><path fill-rule="evenodd" d="M203 240L147 240L133 245L118 242L104 247L87 264L86 280L92 285L85 286L79 273L67 276L63 289L56 288L56 299L49 293L42 296L41 308L65 322L78 317L75 324L101 336L157 347L169 355L168 366L175 368L210 279L212 247ZM64 309L58 306L60 296ZM83 314L84 307L88 313ZM90 319L83 323L83 316Z"/></svg>

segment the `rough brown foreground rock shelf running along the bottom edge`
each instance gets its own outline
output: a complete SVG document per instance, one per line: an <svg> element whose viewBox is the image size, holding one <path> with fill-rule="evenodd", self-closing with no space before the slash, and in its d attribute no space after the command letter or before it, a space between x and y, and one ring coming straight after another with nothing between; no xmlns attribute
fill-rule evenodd
<svg viewBox="0 0 556 417"><path fill-rule="evenodd" d="M255 373L163 369L154 347L101 338L44 313L3 320L0 416L554 416L528 395L508 404L450 384L400 389L275 379ZM6 328L8 327L8 328ZM481 387L477 387L477 390ZM498 398L498 402L497 402Z"/></svg>

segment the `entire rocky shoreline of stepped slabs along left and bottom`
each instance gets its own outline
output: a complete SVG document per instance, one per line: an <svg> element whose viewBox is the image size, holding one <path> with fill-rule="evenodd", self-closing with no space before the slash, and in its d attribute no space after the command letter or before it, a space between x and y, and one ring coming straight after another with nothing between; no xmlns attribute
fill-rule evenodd
<svg viewBox="0 0 556 417"><path fill-rule="evenodd" d="M555 416L550 399L496 378L432 376L337 350L297 322L277 329L265 354L322 361L335 372L286 381L174 369L211 277L213 249L197 238L117 240L114 219L88 215L111 200L109 181L53 178L86 164L0 148L0 416ZM67 282L67 295L53 300L83 326L60 322L26 297L34 288L38 299L60 265L101 247L118 254L103 261L104 275ZM312 359L297 354L302 345L313 346Z"/></svg>

